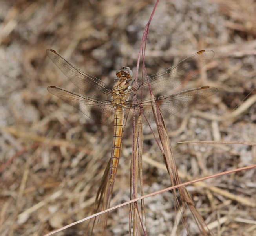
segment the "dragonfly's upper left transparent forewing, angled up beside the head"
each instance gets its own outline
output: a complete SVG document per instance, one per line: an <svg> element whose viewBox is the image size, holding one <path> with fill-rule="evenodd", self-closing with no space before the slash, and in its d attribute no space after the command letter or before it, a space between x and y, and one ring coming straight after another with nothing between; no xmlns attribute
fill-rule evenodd
<svg viewBox="0 0 256 236"><path fill-rule="evenodd" d="M110 99L111 88L100 79L83 72L52 49L47 49L46 54L62 73L86 95L103 100Z"/></svg>

